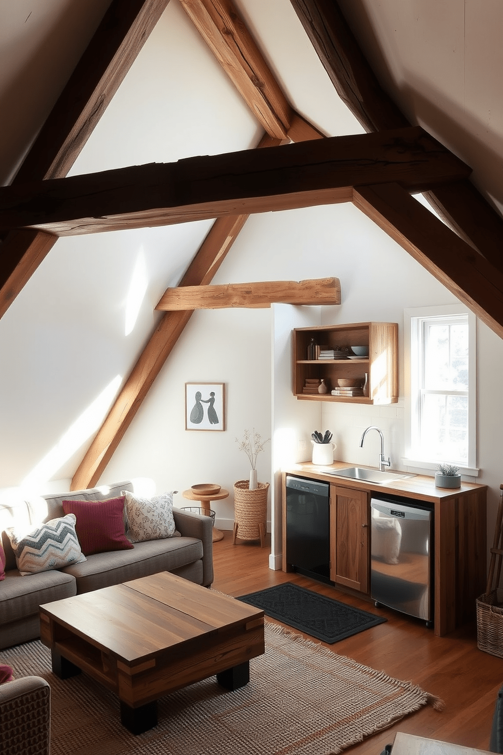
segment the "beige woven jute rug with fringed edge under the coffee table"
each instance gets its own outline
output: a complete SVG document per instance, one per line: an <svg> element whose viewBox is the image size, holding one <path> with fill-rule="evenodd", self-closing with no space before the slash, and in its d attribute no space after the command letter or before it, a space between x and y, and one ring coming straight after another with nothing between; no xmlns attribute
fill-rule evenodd
<svg viewBox="0 0 503 755"><path fill-rule="evenodd" d="M277 624L265 655L235 692L215 677L158 702L158 726L134 736L119 723L118 698L84 674L60 680L36 641L0 652L14 676L51 685L51 755L328 755L442 703L428 692L336 655Z"/></svg>

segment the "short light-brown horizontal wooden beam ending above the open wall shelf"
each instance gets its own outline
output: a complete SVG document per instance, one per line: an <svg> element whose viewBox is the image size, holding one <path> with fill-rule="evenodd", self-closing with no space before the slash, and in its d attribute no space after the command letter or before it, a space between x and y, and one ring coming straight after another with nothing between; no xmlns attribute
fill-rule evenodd
<svg viewBox="0 0 503 755"><path fill-rule="evenodd" d="M259 281L167 288L156 310L221 310L229 307L262 309L271 304L340 304L338 278L305 281Z"/></svg>

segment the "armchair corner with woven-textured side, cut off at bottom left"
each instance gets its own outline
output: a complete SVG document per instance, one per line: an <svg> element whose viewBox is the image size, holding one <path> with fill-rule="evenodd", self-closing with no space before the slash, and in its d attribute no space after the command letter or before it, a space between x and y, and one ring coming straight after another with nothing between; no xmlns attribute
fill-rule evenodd
<svg viewBox="0 0 503 755"><path fill-rule="evenodd" d="M41 676L24 676L0 685L2 752L49 755L51 687Z"/></svg>

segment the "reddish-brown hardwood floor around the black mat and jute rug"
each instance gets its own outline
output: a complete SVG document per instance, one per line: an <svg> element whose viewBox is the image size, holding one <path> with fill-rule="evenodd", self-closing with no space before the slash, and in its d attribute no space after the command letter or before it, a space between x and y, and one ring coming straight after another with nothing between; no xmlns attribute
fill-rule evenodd
<svg viewBox="0 0 503 755"><path fill-rule="evenodd" d="M335 645L322 644L339 655L384 670L397 679L412 681L445 702L444 710L437 711L427 705L382 734L346 750L348 753L379 755L385 744L393 741L397 731L468 747L489 747L495 699L503 684L503 659L477 649L475 624L449 636L436 637L422 621L388 609L376 609L369 600L348 595L302 575L273 572L268 568L270 537L268 535L264 548L258 541L237 541L233 546L232 533L225 532L224 539L213 544L213 588L240 596L293 581L351 606L385 616L388 619L385 624Z"/></svg>

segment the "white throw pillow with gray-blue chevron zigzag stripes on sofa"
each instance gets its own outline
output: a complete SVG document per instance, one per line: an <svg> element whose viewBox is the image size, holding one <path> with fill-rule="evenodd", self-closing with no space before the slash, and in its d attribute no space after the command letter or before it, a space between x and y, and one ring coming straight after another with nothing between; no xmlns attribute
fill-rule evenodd
<svg viewBox="0 0 503 755"><path fill-rule="evenodd" d="M15 527L5 530L23 577L87 561L75 532L76 519L75 514L66 514L32 526L28 531Z"/></svg>

